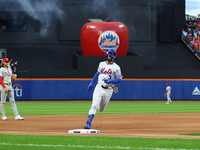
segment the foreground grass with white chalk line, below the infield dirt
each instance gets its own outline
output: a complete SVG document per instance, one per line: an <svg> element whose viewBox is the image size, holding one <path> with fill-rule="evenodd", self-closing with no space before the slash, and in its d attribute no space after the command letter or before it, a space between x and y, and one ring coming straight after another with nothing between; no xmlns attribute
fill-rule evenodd
<svg viewBox="0 0 200 150"><path fill-rule="evenodd" d="M84 136L33 136L0 134L0 149L8 150L199 150L200 141Z"/></svg>

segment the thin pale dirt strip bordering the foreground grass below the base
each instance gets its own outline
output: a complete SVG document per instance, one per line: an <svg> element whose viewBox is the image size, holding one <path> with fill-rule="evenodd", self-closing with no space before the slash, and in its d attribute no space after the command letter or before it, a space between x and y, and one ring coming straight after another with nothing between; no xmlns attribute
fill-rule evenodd
<svg viewBox="0 0 200 150"><path fill-rule="evenodd" d="M84 135L84 133L66 132L30 132L30 131L0 131L0 133L18 133L18 134L63 134L63 135ZM110 136L137 136L137 137L169 137L169 138L193 138L200 139L200 136L194 135L163 135L163 134L127 134L127 133L85 133L87 135L110 135Z"/></svg>

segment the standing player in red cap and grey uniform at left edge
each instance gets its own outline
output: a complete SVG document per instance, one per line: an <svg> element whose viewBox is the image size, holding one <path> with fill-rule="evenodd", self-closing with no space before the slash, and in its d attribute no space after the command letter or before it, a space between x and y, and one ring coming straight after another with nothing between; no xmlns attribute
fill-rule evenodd
<svg viewBox="0 0 200 150"><path fill-rule="evenodd" d="M21 117L17 110L17 105L15 103L14 98L14 90L12 88L12 82L11 78L16 77L16 74L12 74L12 70L9 65L9 59L4 58L1 62L1 68L0 68L0 88L1 88L1 113L2 113L2 120L7 120L6 114L5 114L5 103L6 103L6 97L8 96L9 101L12 106L12 110L15 114L15 120L24 120L23 117ZM15 78L14 77L14 78Z"/></svg>

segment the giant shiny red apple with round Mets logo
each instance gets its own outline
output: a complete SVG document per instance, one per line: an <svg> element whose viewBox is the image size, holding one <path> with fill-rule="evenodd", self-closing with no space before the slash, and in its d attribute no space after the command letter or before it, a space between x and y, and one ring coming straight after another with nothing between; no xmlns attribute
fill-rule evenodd
<svg viewBox="0 0 200 150"><path fill-rule="evenodd" d="M110 49L126 56L128 42L128 28L121 22L89 22L81 29L83 56L105 56Z"/></svg>

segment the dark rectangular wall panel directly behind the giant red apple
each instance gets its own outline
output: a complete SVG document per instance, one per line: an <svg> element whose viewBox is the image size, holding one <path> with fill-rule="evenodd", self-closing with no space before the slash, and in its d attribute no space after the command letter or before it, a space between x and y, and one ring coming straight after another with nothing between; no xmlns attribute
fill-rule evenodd
<svg viewBox="0 0 200 150"><path fill-rule="evenodd" d="M71 5L66 7L65 20L58 22L59 40L80 40L81 27L90 22L88 19L96 18L110 21L123 22L129 29L130 41L152 40L152 6L151 5L109 5L101 14L85 11L85 5ZM91 8L96 7L90 5ZM76 10L76 13L72 13Z"/></svg>

